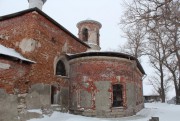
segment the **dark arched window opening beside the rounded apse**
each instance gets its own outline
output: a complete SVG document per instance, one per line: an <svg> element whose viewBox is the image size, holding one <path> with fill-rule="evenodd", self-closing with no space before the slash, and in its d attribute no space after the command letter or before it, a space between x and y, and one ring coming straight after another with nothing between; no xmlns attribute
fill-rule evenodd
<svg viewBox="0 0 180 121"><path fill-rule="evenodd" d="M58 61L56 65L56 75L66 76L65 65L62 61Z"/></svg>

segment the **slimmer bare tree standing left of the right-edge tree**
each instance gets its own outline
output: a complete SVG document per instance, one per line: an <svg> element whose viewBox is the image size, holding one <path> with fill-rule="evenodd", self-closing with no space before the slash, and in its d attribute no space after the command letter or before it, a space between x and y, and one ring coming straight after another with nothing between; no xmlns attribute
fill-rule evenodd
<svg viewBox="0 0 180 121"><path fill-rule="evenodd" d="M161 99L162 102L165 102L165 97L166 97L166 93L165 93L165 89L164 89L164 65L163 62L166 59L166 56L164 55L164 49L166 48L167 45L164 43L163 41L163 34L161 32L161 29L158 27L158 25L156 25L156 27L153 28L153 30L151 30L151 32L149 33L149 46L147 47L147 55L149 57L151 66L156 70L156 74L158 74L159 76L159 80L160 80L160 91L161 91Z"/></svg>

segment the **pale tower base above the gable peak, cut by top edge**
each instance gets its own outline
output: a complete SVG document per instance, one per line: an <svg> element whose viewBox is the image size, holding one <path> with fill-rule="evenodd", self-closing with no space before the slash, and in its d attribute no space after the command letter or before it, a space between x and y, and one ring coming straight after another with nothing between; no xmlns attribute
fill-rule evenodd
<svg viewBox="0 0 180 121"><path fill-rule="evenodd" d="M42 6L46 2L46 0L28 0L28 2L29 2L29 8L37 7L40 10L42 10Z"/></svg>

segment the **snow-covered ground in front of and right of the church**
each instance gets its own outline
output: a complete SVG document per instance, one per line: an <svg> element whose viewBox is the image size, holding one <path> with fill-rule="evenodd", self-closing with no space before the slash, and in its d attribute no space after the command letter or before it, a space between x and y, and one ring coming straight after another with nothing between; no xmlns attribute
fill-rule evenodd
<svg viewBox="0 0 180 121"><path fill-rule="evenodd" d="M135 116L124 118L90 118L68 113L54 112L50 117L31 119L29 121L148 121L151 117L159 117L160 121L180 121L180 106L163 103L145 103L145 108Z"/></svg>

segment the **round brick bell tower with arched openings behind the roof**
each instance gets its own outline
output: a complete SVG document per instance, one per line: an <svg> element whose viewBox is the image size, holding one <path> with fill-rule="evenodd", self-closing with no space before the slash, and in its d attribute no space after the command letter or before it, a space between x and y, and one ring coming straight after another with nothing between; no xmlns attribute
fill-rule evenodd
<svg viewBox="0 0 180 121"><path fill-rule="evenodd" d="M91 47L88 51L100 51L99 30L101 27L101 23L94 20L84 20L77 24L79 39Z"/></svg>

